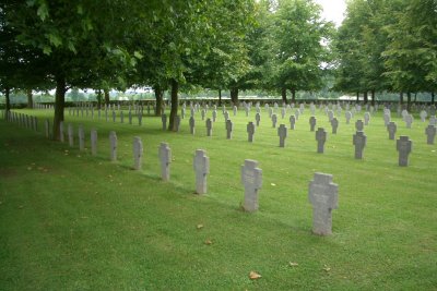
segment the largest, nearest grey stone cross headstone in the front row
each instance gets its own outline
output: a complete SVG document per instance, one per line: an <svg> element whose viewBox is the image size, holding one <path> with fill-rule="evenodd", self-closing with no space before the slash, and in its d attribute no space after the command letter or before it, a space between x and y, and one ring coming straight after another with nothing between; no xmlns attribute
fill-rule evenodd
<svg viewBox="0 0 437 291"><path fill-rule="evenodd" d="M331 174L315 173L308 199L312 205L312 233L332 234L332 209L339 207L339 185L332 183Z"/></svg>

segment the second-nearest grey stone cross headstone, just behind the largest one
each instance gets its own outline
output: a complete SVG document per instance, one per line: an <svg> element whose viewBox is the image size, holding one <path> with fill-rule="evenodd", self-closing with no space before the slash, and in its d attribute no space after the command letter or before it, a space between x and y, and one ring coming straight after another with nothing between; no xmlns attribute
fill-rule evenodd
<svg viewBox="0 0 437 291"><path fill-rule="evenodd" d="M245 159L245 165L241 165L241 183L245 185L243 207L246 211L258 210L258 191L262 186L262 170L258 168L258 161Z"/></svg>

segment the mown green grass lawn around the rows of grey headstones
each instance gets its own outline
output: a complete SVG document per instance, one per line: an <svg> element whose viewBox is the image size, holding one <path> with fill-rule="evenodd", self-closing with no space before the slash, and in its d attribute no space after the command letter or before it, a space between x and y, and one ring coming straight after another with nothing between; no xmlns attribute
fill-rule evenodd
<svg viewBox="0 0 437 291"><path fill-rule="evenodd" d="M15 110L39 119L39 132L0 121L0 290L435 290L437 288L437 146L426 144L418 116L412 129L398 123L397 140L413 141L409 167L398 166L381 109L364 131L364 159L354 159L355 121L339 118L317 154L306 108L296 130L279 147L264 108L253 143L243 110L226 140L221 110L213 136L200 112L196 134L189 113L179 133L162 130L161 118L142 125L69 116L74 147L44 136L50 110ZM211 110L208 112L211 117ZM86 135L78 146L78 125ZM97 129L97 156L90 130ZM109 131L118 136L118 161L109 161ZM66 131L67 132L67 131ZM132 142L142 138L142 170L134 171ZM170 180L160 178L157 150L173 151ZM208 194L196 195L192 158L210 157ZM259 210L241 210L240 166L259 161L263 185ZM311 233L308 183L315 172L333 174L339 208L333 234ZM255 271L261 278L252 280Z"/></svg>

